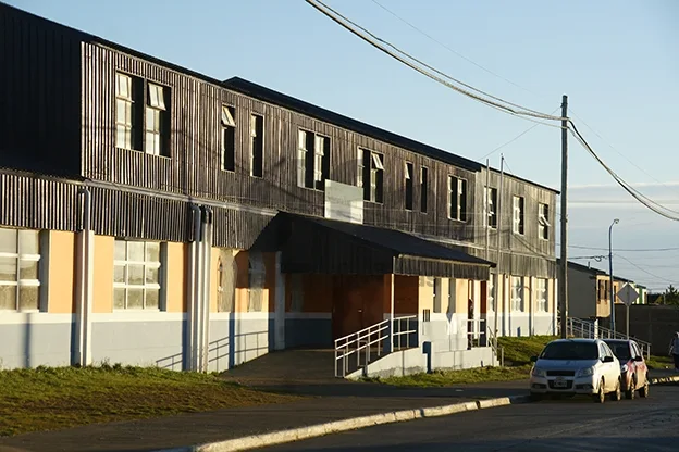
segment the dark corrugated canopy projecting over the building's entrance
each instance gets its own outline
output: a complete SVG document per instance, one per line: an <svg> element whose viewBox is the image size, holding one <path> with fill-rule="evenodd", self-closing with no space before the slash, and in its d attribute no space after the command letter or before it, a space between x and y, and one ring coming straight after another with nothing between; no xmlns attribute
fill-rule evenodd
<svg viewBox="0 0 679 452"><path fill-rule="evenodd" d="M276 230L283 273L487 280L490 268L495 266L464 251L394 229L284 212L270 226Z"/></svg>

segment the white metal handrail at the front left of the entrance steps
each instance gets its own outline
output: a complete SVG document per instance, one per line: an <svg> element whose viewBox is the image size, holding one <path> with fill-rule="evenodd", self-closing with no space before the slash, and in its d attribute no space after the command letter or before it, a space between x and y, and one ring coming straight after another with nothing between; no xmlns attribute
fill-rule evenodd
<svg viewBox="0 0 679 452"><path fill-rule="evenodd" d="M396 338L398 339L397 349L403 348L404 336L406 348L410 347L410 335L417 332L417 328L410 328L410 321L417 321L417 315L394 318L394 324L392 325L392 337L394 338L394 342L396 342ZM407 322L405 329L402 327L402 323L404 321ZM385 351L382 348L382 343L390 337L390 319L382 321L356 332L351 332L350 335L335 339L335 377L340 377L340 374L342 374L342 377L346 376L349 368L349 357L354 354L356 355L356 365L358 368L368 365L370 362L370 352L373 349L373 346L376 344L378 356L382 355ZM391 350L394 350L395 348L395 344L392 343ZM365 351L365 353L361 353L361 351ZM362 355L365 356L365 360L361 364ZM340 371L340 365L342 366L342 371Z"/></svg>

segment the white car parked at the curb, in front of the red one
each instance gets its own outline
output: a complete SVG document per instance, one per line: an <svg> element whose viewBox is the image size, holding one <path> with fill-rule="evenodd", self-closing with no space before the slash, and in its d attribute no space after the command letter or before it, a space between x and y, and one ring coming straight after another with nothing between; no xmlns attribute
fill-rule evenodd
<svg viewBox="0 0 679 452"><path fill-rule="evenodd" d="M531 395L590 394L604 403L606 394L620 400L620 363L598 339L558 339L533 356Z"/></svg>

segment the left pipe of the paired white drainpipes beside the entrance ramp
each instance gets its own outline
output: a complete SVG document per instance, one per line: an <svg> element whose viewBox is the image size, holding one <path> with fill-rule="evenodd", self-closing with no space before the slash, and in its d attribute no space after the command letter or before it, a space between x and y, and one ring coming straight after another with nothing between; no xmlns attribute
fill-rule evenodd
<svg viewBox="0 0 679 452"><path fill-rule="evenodd" d="M188 278L188 353L187 368L188 371L198 369L199 356L199 309L200 309L200 278L202 263L200 261L200 242L201 242L201 219L202 213L197 204L190 204L194 213L194 241L189 247L189 278Z"/></svg>

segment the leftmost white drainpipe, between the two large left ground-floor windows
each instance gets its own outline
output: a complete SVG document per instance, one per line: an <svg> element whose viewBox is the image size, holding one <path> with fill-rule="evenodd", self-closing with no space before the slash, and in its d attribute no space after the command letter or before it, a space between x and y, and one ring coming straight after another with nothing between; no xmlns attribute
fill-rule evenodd
<svg viewBox="0 0 679 452"><path fill-rule="evenodd" d="M81 187L83 196L82 230L77 237L78 273L76 287L77 352L74 361L81 366L91 364L91 304L94 278L94 233L91 230L91 193Z"/></svg>

